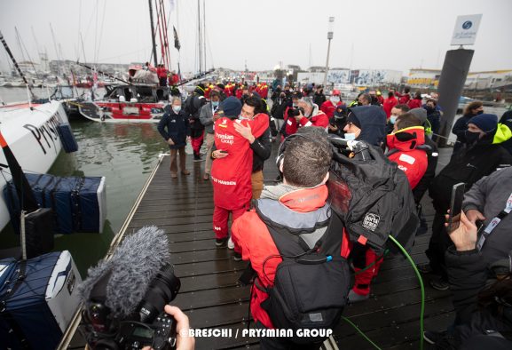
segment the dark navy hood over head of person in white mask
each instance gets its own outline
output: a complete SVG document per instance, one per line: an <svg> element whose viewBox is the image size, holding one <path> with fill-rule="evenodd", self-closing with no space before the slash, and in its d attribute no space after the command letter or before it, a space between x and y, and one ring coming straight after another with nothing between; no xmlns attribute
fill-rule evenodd
<svg viewBox="0 0 512 350"><path fill-rule="evenodd" d="M359 141L370 145L381 146L386 136L386 113L380 106L352 107L351 113L358 118L361 124Z"/></svg>

